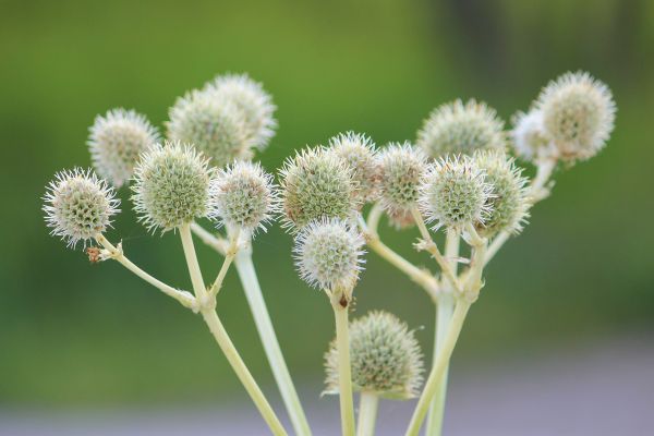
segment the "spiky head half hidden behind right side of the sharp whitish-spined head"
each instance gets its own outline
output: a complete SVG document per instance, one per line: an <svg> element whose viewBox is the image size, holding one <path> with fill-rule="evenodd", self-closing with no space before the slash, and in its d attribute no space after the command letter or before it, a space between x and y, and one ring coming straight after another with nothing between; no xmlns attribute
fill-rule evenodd
<svg viewBox="0 0 654 436"><path fill-rule="evenodd" d="M499 150L480 150L474 154L474 162L491 185L486 199L489 211L477 231L485 237L502 230L520 232L529 215L528 180L522 177L522 169L516 166L516 159Z"/></svg>

